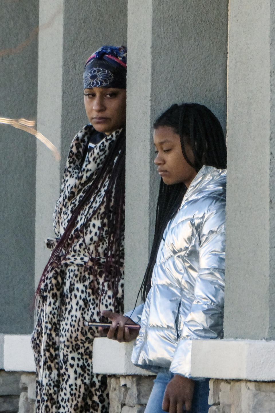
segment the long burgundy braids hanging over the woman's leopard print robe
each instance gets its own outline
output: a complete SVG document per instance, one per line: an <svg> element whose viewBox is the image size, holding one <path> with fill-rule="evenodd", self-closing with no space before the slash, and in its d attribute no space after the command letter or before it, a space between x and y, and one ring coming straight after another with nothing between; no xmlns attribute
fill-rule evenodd
<svg viewBox="0 0 275 413"><path fill-rule="evenodd" d="M103 161L101 168L96 171L96 176L92 176L92 179L93 180L88 186L85 195L73 211L63 235L53 249L52 255L40 278L38 288L35 292L35 298L40 295L41 287L46 276L54 268L59 266L61 260L63 261L63 259L66 259L70 247L81 237L89 254L89 262L92 263L89 268L92 271L92 275L94 275L94 277L96 276L96 257L98 256L97 252L101 235L103 230L105 230L103 224L104 221L107 220L108 238L107 251L105 254L106 261L103 268L103 283L108 282L108 287L113 291L113 303L115 304L118 295L122 261L124 260L122 240L124 237L125 216L125 128L122 129L115 142L109 147L108 154ZM108 180L108 186L104 192L103 199L101 203L95 207L94 200L101 192L106 180ZM98 238L92 255L92 252L89 250L85 241L85 228L89 228L90 221L96 216L103 200L105 202L105 207L101 215L101 226L99 228ZM79 228L75 228L78 223L78 218L85 208L87 208L87 214L84 223L80 225ZM89 218L87 218L88 215ZM99 297L99 304L101 295Z"/></svg>

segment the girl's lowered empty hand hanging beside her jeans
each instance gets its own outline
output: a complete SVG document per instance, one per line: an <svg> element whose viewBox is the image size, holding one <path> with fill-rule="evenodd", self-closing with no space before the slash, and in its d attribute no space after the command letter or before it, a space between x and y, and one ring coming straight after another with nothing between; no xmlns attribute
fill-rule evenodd
<svg viewBox="0 0 275 413"><path fill-rule="evenodd" d="M182 413L184 406L187 411L191 410L194 380L176 374L166 386L162 409L169 413Z"/></svg>

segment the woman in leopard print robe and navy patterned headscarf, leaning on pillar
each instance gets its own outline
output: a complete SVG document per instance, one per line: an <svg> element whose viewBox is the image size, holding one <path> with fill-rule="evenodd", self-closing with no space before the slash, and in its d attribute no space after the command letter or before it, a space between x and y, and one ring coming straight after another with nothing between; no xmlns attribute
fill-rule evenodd
<svg viewBox="0 0 275 413"><path fill-rule="evenodd" d="M123 311L126 47L86 62L90 123L73 139L54 211L56 242L40 279L32 346L37 412L107 412L107 377L92 372L101 308Z"/></svg>

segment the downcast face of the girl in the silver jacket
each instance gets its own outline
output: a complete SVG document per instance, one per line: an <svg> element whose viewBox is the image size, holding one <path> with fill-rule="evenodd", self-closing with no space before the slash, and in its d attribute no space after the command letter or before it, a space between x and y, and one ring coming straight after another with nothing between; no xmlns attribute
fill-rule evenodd
<svg viewBox="0 0 275 413"><path fill-rule="evenodd" d="M155 164L157 172L167 185L184 183L188 188L197 172L185 160L181 150L181 140L174 128L159 126L154 130L154 145L157 156ZM192 162L193 152L188 143L185 144L186 155Z"/></svg>

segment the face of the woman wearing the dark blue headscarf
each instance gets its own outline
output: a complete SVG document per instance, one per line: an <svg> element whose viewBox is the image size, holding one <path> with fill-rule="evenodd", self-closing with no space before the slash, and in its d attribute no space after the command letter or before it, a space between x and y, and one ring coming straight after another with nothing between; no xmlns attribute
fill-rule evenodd
<svg viewBox="0 0 275 413"><path fill-rule="evenodd" d="M88 119L98 132L112 133L126 122L126 89L84 89L84 104Z"/></svg>

